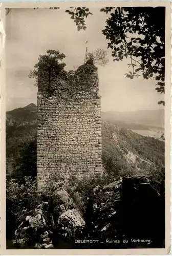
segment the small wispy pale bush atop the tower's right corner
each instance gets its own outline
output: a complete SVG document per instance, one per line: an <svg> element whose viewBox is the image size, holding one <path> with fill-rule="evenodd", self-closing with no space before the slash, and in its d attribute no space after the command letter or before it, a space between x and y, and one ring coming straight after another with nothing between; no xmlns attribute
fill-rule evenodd
<svg viewBox="0 0 172 256"><path fill-rule="evenodd" d="M85 61L89 59L92 59L95 64L98 64L100 66L105 66L109 62L107 51L102 49L97 49L94 52L87 53Z"/></svg>

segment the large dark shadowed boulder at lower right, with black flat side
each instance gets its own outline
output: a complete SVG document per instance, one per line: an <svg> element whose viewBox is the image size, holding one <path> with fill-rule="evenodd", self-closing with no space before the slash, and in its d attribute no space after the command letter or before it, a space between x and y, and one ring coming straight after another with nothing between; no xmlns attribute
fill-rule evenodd
<svg viewBox="0 0 172 256"><path fill-rule="evenodd" d="M152 181L140 175L96 186L84 219L88 230L92 230L91 236L97 239L115 236L158 239L163 232L159 223L159 219L163 220L162 211L160 195Z"/></svg>

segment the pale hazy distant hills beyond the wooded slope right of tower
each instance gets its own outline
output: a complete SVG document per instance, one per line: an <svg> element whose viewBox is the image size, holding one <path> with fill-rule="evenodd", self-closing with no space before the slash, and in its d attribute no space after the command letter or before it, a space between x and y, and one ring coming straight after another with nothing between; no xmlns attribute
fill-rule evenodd
<svg viewBox="0 0 172 256"><path fill-rule="evenodd" d="M142 110L134 112L102 112L102 119L127 129L146 130L164 128L164 110Z"/></svg>

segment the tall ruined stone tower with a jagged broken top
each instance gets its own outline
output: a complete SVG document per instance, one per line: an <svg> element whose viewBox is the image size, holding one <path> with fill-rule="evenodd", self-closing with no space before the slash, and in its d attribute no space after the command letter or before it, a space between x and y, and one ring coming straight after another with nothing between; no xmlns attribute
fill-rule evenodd
<svg viewBox="0 0 172 256"><path fill-rule="evenodd" d="M39 77L37 95L38 187L51 176L80 179L101 174L101 106L97 68L87 64L47 91Z"/></svg>

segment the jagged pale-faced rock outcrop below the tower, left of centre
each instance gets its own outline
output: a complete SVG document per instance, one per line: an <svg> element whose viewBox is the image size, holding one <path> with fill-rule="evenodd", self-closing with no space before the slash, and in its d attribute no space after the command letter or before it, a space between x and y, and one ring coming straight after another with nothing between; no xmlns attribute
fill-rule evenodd
<svg viewBox="0 0 172 256"><path fill-rule="evenodd" d="M42 202L32 211L15 231L20 248L51 249L59 239L68 242L80 234L85 222L79 199L63 185L52 194L50 202Z"/></svg>

